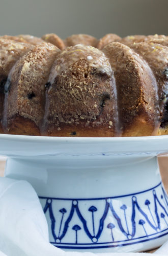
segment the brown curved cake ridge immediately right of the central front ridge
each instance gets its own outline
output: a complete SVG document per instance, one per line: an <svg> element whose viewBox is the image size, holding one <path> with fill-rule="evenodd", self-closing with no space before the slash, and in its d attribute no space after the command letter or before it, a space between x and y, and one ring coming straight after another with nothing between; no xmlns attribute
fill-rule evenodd
<svg viewBox="0 0 168 256"><path fill-rule="evenodd" d="M112 42L102 51L114 70L122 136L128 136L128 131L129 135L152 135L158 127L157 85L149 66L120 42ZM146 129L136 125L138 118L143 120L142 124L144 123Z"/></svg>

